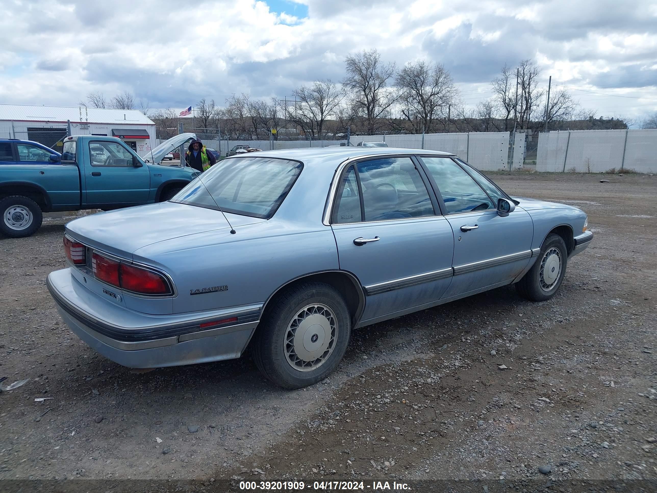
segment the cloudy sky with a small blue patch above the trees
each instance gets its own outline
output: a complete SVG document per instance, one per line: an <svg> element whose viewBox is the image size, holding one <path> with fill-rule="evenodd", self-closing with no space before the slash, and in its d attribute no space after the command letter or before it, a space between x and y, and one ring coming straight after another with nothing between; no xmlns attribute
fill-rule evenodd
<svg viewBox="0 0 657 493"><path fill-rule="evenodd" d="M130 91L177 110L339 81L346 54L443 63L465 103L532 58L604 116L657 110L654 0L0 0L0 103Z"/></svg>

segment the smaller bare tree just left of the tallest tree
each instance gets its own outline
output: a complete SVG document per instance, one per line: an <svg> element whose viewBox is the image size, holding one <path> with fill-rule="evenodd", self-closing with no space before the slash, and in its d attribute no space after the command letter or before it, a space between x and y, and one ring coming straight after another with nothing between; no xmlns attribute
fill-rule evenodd
<svg viewBox="0 0 657 493"><path fill-rule="evenodd" d="M328 79L315 81L309 87L302 85L294 89L294 96L298 103L295 108L287 108L286 118L307 135L322 138L325 122L329 116L334 116L344 93Z"/></svg>

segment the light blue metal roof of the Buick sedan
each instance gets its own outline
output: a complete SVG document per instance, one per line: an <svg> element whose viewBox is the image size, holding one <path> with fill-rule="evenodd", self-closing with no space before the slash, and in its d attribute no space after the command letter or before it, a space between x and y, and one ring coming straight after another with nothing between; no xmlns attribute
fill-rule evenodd
<svg viewBox="0 0 657 493"><path fill-rule="evenodd" d="M227 159L255 158L255 157L272 157L279 159L291 159L301 161L304 164L312 166L313 164L324 164L332 162L339 164L342 161L351 158L366 158L373 156L385 157L389 154L413 156L421 154L422 156L455 156L453 153L443 151L428 151L426 149L405 149L399 147L304 147L301 149L281 149L279 151L258 151L256 153L240 154L230 156Z"/></svg>

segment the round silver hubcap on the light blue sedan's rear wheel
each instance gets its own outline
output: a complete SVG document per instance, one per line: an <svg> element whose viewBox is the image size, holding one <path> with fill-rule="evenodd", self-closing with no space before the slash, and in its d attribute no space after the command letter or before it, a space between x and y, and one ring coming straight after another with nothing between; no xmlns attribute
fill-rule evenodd
<svg viewBox="0 0 657 493"><path fill-rule="evenodd" d="M286 360L298 371L313 370L328 360L337 339L338 322L332 310L321 303L305 306L285 332Z"/></svg>

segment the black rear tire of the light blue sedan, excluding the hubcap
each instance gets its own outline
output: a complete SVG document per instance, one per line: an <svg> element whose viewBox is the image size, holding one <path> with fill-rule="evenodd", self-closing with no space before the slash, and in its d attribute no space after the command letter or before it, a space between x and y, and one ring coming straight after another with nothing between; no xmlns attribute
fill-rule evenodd
<svg viewBox="0 0 657 493"><path fill-rule="evenodd" d="M325 283L307 282L300 283L286 291L271 301L271 309L267 310L263 320L260 322L252 344L252 355L256 366L261 373L276 385L284 388L301 388L313 385L325 379L340 364L342 356L347 350L349 337L351 333L351 316L346 303L336 289ZM317 305L315 307L315 305ZM309 310L304 310L307 306L313 306ZM328 307L330 312L326 311ZM291 339L290 344L284 344L290 325L298 323L303 317L315 316L319 319L325 316L330 322L332 319L337 325L327 327L328 332L319 329L319 340L317 333L311 334L312 327L306 327L304 334L309 335L308 340L311 344L321 349L323 336L328 336L328 348L324 350L325 358L314 360L315 368L311 363L305 371L297 369L303 365L298 362L295 367L289 361L294 358L290 357L286 347L294 347L294 341ZM297 331L302 328L302 321L298 323ZM323 325L320 325L323 328ZM336 335L332 336L332 330L336 327ZM294 331L296 334L297 331ZM299 338L301 339L301 335ZM332 341L332 344L331 342ZM304 342L305 344L305 339ZM312 347L312 346L311 346ZM296 354L296 353L295 353ZM319 363L317 363L319 361Z"/></svg>

